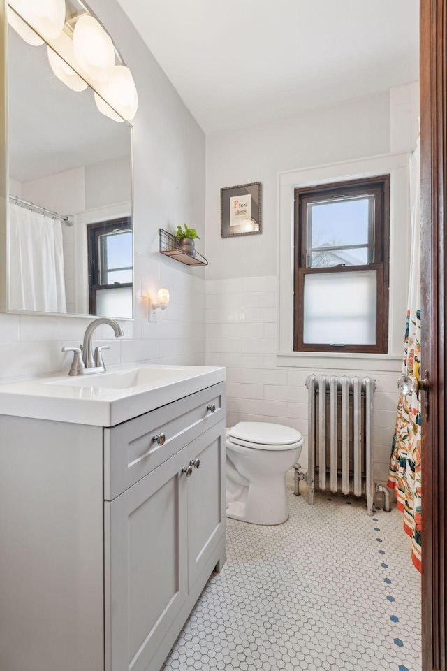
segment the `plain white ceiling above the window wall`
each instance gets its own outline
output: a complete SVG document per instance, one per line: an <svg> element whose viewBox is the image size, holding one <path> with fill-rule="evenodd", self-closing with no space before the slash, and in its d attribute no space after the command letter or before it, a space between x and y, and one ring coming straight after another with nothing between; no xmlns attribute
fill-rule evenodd
<svg viewBox="0 0 447 671"><path fill-rule="evenodd" d="M118 1L207 134L418 79L419 0Z"/></svg>

